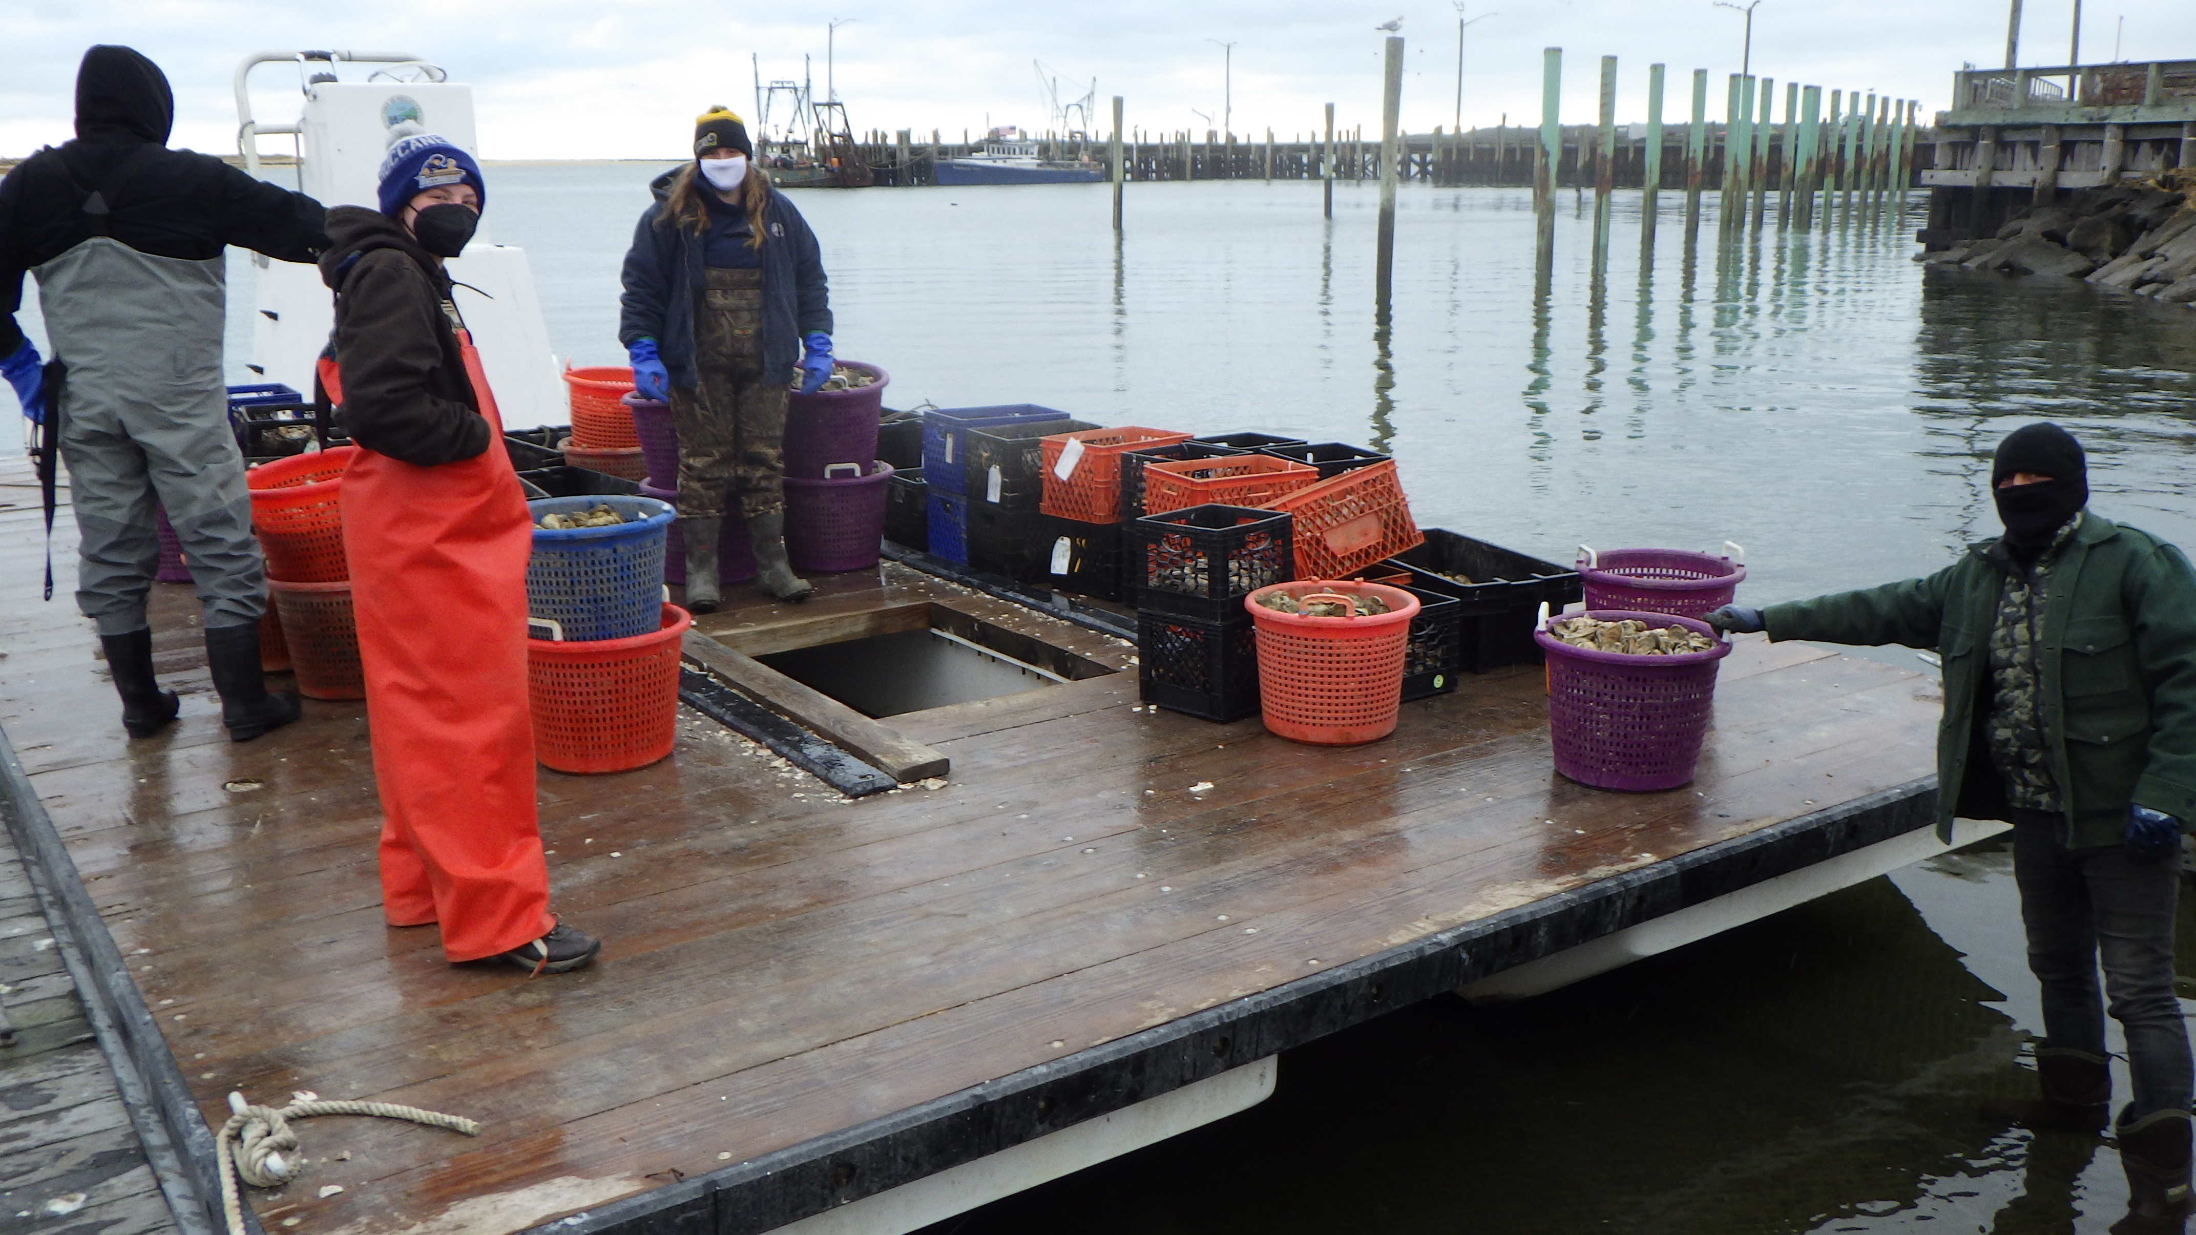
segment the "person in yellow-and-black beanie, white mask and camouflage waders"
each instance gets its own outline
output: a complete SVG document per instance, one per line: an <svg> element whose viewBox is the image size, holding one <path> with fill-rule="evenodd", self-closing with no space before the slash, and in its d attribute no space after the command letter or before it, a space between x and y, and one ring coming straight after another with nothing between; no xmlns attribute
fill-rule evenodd
<svg viewBox="0 0 2196 1235"><path fill-rule="evenodd" d="M716 554L727 486L740 497L755 587L777 600L813 591L786 560L786 396L795 369L802 391L830 378L830 286L808 220L753 154L731 110L694 119L694 160L648 185L657 200L632 231L619 297L617 338L632 356L632 385L641 398L670 402L679 431L679 527L694 613L714 613L722 600Z"/></svg>

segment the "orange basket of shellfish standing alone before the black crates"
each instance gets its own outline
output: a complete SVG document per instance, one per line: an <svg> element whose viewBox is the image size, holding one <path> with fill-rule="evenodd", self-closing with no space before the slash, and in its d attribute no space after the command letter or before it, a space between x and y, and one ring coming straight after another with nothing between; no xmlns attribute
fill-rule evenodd
<svg viewBox="0 0 2196 1235"><path fill-rule="evenodd" d="M1304 618L1261 598L1377 596L1388 613ZM1377 582L1276 582L1243 598L1258 628L1258 705L1265 727L1296 743L1348 747L1394 732L1403 703L1403 655L1419 598Z"/></svg>

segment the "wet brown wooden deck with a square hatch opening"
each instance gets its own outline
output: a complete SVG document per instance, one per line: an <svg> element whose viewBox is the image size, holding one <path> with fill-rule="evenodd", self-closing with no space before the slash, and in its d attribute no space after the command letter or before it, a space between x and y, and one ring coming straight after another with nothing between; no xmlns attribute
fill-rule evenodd
<svg viewBox="0 0 2196 1235"><path fill-rule="evenodd" d="M692 710L665 763L542 771L553 910L606 938L602 960L452 967L430 930L382 925L365 705L224 741L195 600L158 587L182 719L125 743L66 596L75 536L57 530L40 604L35 490L9 468L20 806L112 936L125 1033L158 1033L136 1050L165 1068L189 1184L211 1195L204 1125L231 1090L485 1125L299 1125L305 1176L253 1195L279 1235L771 1231L1935 811L1935 679L1820 648L1741 642L1698 782L1616 795L1550 771L1537 666L1315 749L1144 712L1133 648L887 563L698 628L769 650L944 604L1129 672L894 719L951 756L940 789L848 800Z"/></svg>

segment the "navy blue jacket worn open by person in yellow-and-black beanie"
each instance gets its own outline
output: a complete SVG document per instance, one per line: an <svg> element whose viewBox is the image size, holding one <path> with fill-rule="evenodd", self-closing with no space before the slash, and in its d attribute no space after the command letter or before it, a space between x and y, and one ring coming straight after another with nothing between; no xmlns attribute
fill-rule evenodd
<svg viewBox="0 0 2196 1235"><path fill-rule="evenodd" d="M694 299L703 281L703 237L657 220L676 174L674 167L648 185L657 202L641 213L632 248L626 251L617 341L632 347L637 338L654 338L672 385L694 389ZM824 255L808 220L777 189L771 189L762 226L769 233L762 237L762 371L782 374L791 382L793 367L802 363L802 336L813 330L830 334L830 286L824 281Z"/></svg>

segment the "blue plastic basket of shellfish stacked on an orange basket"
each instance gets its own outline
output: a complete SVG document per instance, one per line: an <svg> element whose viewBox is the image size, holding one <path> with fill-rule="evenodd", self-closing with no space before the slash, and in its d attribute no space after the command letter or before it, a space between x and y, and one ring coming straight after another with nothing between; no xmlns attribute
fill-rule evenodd
<svg viewBox="0 0 2196 1235"><path fill-rule="evenodd" d="M542 514L597 505L626 516L615 527L538 527ZM663 624L663 532L676 512L652 497L542 497L527 503L527 615L556 622L567 642L630 639Z"/></svg>

